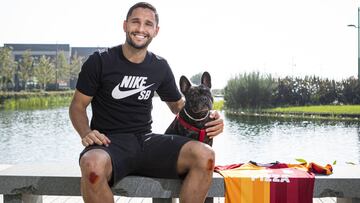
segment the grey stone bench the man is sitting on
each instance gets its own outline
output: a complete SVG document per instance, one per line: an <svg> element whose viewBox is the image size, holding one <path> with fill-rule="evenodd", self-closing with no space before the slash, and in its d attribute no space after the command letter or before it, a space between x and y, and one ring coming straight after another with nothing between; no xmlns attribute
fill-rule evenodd
<svg viewBox="0 0 360 203"><path fill-rule="evenodd" d="M80 169L77 165L14 165L0 167L0 194L5 196L80 195ZM126 197L174 198L181 180L128 176L112 189ZM224 196L222 176L214 173L209 197ZM334 174L315 177L314 197L360 198L360 167L335 166Z"/></svg>

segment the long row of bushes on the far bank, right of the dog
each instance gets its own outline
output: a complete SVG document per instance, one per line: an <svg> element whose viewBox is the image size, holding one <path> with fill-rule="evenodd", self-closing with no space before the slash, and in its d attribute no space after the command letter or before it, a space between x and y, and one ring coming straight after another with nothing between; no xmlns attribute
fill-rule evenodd
<svg viewBox="0 0 360 203"><path fill-rule="evenodd" d="M316 76L274 80L271 75L252 72L230 79L224 100L229 109L360 104L360 84L354 77L340 82Z"/></svg>

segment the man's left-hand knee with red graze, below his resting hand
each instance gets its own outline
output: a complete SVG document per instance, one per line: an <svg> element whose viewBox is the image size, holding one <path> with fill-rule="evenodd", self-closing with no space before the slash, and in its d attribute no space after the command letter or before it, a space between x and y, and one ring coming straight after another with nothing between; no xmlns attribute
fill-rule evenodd
<svg viewBox="0 0 360 203"><path fill-rule="evenodd" d="M112 170L111 159L103 150L90 150L81 157L80 168L82 177L92 184L99 180L108 181Z"/></svg>

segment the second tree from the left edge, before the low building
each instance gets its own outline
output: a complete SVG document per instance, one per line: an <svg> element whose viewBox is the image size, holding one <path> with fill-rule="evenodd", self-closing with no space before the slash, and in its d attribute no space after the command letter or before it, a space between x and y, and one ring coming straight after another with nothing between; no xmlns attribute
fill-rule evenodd
<svg viewBox="0 0 360 203"><path fill-rule="evenodd" d="M19 78L22 82L22 86L27 90L27 83L30 78L34 75L33 73L33 62L34 58L31 56L29 50L26 50L19 60Z"/></svg>

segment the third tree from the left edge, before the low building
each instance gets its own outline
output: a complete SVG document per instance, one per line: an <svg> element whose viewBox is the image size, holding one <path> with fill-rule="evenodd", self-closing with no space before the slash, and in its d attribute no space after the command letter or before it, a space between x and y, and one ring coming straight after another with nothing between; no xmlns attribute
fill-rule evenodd
<svg viewBox="0 0 360 203"><path fill-rule="evenodd" d="M43 90L46 90L46 85L49 82L54 81L55 70L54 65L50 62L50 58L41 56L39 64L35 67L35 77Z"/></svg>

